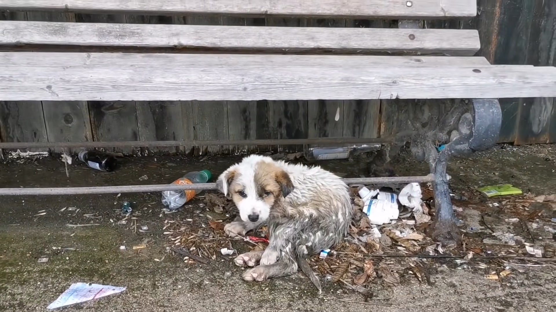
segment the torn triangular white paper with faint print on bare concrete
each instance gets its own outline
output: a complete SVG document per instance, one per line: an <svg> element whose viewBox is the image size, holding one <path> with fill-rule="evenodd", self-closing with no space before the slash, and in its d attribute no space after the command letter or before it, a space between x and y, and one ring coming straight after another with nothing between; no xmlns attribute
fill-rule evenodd
<svg viewBox="0 0 556 312"><path fill-rule="evenodd" d="M116 287L99 284L74 283L64 291L58 299L54 300L46 308L49 310L62 308L63 306L83 303L112 294L118 294L126 290L125 287Z"/></svg>

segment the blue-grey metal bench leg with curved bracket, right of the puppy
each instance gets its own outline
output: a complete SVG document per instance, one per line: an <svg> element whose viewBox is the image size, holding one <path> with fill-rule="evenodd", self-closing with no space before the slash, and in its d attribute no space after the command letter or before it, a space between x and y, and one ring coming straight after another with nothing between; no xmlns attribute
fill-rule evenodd
<svg viewBox="0 0 556 312"><path fill-rule="evenodd" d="M446 175L449 158L492 148L498 142L501 125L502 110L498 100L474 99L471 112L461 115L457 127L458 137L445 144L440 152L431 143L425 143L428 146L421 149L425 151L425 159L431 173L435 175L433 189L436 215L431 230L435 241L445 245L461 243Z"/></svg>

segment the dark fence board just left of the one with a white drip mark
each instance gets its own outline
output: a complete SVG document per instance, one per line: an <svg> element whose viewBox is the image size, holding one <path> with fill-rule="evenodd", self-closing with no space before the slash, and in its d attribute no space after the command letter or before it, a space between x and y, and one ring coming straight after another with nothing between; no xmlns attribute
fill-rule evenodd
<svg viewBox="0 0 556 312"><path fill-rule="evenodd" d="M307 138L307 101L269 101L270 136L272 139ZM280 147L286 150L302 150L303 146Z"/></svg>

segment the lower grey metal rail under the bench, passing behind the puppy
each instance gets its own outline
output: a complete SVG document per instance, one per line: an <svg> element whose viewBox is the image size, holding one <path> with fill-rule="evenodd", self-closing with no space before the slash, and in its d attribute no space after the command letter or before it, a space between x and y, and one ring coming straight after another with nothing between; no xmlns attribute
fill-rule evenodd
<svg viewBox="0 0 556 312"><path fill-rule="evenodd" d="M433 182L434 175L419 177L390 177L390 178L353 178L342 179L346 184L394 184L394 183L424 183ZM216 183L199 183L188 185L157 184L157 185L120 185L111 187L78 187L78 188L3 188L0 195L78 195L78 194L117 194L117 193L147 193L165 190L214 190Z"/></svg>

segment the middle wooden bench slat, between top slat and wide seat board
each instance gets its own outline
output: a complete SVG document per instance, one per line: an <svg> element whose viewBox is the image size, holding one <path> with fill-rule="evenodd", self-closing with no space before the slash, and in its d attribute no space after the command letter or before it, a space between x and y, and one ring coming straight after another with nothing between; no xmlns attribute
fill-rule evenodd
<svg viewBox="0 0 556 312"><path fill-rule="evenodd" d="M474 29L246 27L0 21L1 44L404 52L473 56Z"/></svg>

